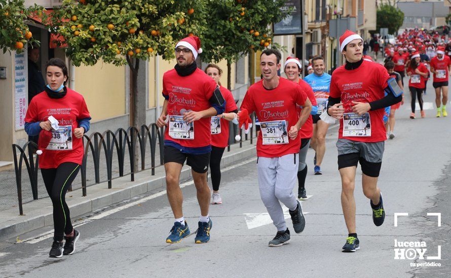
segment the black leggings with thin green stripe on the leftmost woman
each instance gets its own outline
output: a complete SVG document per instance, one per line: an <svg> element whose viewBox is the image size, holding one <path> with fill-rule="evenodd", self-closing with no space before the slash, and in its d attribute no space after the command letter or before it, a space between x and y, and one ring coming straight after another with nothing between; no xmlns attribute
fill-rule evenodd
<svg viewBox="0 0 451 278"><path fill-rule="evenodd" d="M80 165L73 162L61 163L58 168L41 169L47 193L53 204L53 225L55 227L54 239L62 241L64 234L72 233L69 207L65 196L67 188L77 176Z"/></svg>

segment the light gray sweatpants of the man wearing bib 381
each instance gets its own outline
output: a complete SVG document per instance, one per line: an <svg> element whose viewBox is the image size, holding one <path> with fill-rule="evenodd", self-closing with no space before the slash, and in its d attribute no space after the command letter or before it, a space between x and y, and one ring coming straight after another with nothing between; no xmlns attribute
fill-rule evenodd
<svg viewBox="0 0 451 278"><path fill-rule="evenodd" d="M273 158L258 157L257 159L260 198L277 230L280 231L285 231L287 225L279 201L290 210L295 210L297 207L293 188L297 182L298 156L296 153Z"/></svg>

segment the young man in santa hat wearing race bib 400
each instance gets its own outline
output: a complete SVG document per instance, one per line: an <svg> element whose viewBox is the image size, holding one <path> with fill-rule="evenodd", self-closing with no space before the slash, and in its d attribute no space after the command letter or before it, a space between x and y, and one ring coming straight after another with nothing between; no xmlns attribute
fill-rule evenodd
<svg viewBox="0 0 451 278"><path fill-rule="evenodd" d="M363 39L346 30L340 37L340 51L346 64L332 73L327 114L340 119L338 166L342 178L342 207L348 228L343 252L359 247L356 233L354 184L357 164L362 168L362 188L370 199L375 225L384 222L385 210L378 176L382 165L384 141L384 108L401 101L402 90L379 63L362 59ZM384 97L384 91L387 96Z"/></svg>

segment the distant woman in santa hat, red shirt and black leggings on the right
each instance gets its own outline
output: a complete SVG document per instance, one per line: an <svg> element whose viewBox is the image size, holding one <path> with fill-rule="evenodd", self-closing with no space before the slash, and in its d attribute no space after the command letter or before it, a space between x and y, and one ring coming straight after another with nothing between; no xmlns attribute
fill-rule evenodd
<svg viewBox="0 0 451 278"><path fill-rule="evenodd" d="M423 92L426 87L425 79L428 77L429 70L420 60L420 53L414 53L410 58L410 64L407 68L407 75L410 76L409 90L412 96L410 104L412 113L410 113L410 119L415 119L416 97L418 97L418 103L420 104L421 117L426 117L426 113L423 110Z"/></svg>

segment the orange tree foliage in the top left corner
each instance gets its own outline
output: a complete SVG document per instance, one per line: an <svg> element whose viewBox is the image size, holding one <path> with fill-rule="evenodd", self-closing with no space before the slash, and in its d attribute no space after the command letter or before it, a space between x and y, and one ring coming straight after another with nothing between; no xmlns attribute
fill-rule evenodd
<svg viewBox="0 0 451 278"><path fill-rule="evenodd" d="M28 16L45 16L43 8L34 4L25 8L24 0L0 0L0 48L5 54L8 50L21 53L26 43L39 45L25 24Z"/></svg>

